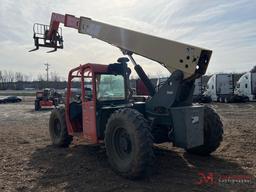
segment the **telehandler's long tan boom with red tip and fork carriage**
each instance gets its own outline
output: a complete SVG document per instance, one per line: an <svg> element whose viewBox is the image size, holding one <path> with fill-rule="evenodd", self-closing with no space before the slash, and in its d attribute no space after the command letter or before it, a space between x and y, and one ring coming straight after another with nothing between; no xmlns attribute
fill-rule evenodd
<svg viewBox="0 0 256 192"><path fill-rule="evenodd" d="M116 46L130 57L135 53L159 62L170 72L181 70L186 79L195 79L205 74L212 53L207 49L116 27L87 17L77 18L73 15L52 13L50 27L45 31L43 39L49 41L45 47L53 47L54 51L63 48L63 45L58 47L59 40L56 39L60 23ZM44 46L36 43L36 38L34 31L36 49ZM60 39L62 40L62 37Z"/></svg>

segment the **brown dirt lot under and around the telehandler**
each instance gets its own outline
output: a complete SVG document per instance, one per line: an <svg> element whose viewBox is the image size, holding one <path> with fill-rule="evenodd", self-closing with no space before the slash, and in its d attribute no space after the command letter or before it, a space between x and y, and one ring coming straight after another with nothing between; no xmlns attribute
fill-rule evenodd
<svg viewBox="0 0 256 192"><path fill-rule="evenodd" d="M103 146L52 147L50 111L35 112L30 102L0 105L0 191L256 191L256 103L212 106L224 123L218 151L197 157L157 147L154 174L129 181L111 171Z"/></svg>

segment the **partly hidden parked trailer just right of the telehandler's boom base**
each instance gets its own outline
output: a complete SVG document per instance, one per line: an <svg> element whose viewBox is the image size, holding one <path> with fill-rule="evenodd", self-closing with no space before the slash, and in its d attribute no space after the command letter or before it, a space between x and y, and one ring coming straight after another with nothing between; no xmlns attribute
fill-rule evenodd
<svg viewBox="0 0 256 192"><path fill-rule="evenodd" d="M210 103L212 99L210 96L204 94L205 87L203 86L203 77L195 80L195 89L193 93L193 102L196 103Z"/></svg>

